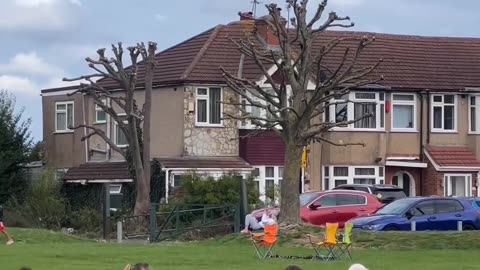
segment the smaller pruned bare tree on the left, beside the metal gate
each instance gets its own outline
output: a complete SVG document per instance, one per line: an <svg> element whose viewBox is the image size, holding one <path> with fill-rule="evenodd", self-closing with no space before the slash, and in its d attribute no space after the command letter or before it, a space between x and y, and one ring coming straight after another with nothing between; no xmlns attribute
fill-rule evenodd
<svg viewBox="0 0 480 270"><path fill-rule="evenodd" d="M125 134L128 142L126 149L118 147L111 136L102 129L89 124L81 124L71 127L72 129L85 128L90 132L82 138L86 140L93 135L102 138L111 149L120 153L126 160L131 162L135 170L136 200L134 213L145 214L150 207L150 124L152 107L152 83L154 58L157 44L148 43L148 48L143 44L128 47L130 52L130 66L123 63L123 47L121 43L112 45L114 57L107 58L105 49L97 50L98 59L86 58L88 66L95 72L77 78L64 81L86 81L80 83L77 91L72 93L84 93L91 96L95 104L108 114L115 121L119 129ZM142 83L139 84L139 57L142 58L141 65L145 66L142 76ZM116 83L116 89L102 86L96 79L105 78ZM140 109L135 93L140 87L145 89L145 102ZM105 102L106 101L106 102ZM123 116L124 114L124 116ZM143 130L139 130L143 128ZM143 134L143 136L139 136ZM143 138L142 138L143 137ZM128 158L128 157L131 158Z"/></svg>

